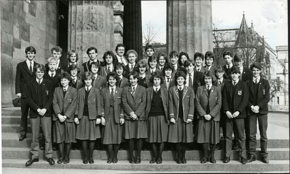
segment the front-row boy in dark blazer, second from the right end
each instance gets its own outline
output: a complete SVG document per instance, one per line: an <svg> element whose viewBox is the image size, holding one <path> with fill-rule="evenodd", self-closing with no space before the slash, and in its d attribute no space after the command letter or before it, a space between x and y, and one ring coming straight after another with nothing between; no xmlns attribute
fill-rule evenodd
<svg viewBox="0 0 290 174"><path fill-rule="evenodd" d="M241 163L246 164L245 159L245 134L244 119L246 118L245 107L249 101L249 91L247 84L239 80L241 72L237 66L230 69L231 82L224 86L222 94L222 107L227 117L225 118L226 137L225 137L225 159L224 163L230 161L232 150L232 131L233 125L236 127L237 138L239 141L239 151Z"/></svg>

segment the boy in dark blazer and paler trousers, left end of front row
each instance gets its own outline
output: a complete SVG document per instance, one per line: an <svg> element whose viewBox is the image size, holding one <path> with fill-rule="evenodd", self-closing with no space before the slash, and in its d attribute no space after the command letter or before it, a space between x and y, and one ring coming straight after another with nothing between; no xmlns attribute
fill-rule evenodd
<svg viewBox="0 0 290 174"><path fill-rule="evenodd" d="M40 125L45 137L45 157L49 164L54 164L51 143L51 116L53 85L43 78L45 67L37 64L35 67L36 79L27 83L27 104L29 105L29 118L32 130L31 150L32 158L26 166L38 162L39 158L39 131Z"/></svg>

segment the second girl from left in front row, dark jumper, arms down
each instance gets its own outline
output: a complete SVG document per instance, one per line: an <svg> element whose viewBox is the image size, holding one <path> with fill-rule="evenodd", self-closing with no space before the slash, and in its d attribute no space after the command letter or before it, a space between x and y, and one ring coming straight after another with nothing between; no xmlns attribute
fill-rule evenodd
<svg viewBox="0 0 290 174"><path fill-rule="evenodd" d="M92 86L93 75L85 72L82 81L85 86L78 90L77 107L75 110L75 123L78 125L75 138L81 140L84 160L83 164L93 164L93 149L95 140L101 138L99 124L101 122L100 91ZM97 124L97 125L96 125ZM87 151L89 147L89 151Z"/></svg>

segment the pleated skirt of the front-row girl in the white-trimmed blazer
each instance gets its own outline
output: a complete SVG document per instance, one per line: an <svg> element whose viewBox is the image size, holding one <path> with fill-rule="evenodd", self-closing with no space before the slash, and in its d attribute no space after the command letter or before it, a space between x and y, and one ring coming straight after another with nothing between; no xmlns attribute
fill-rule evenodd
<svg viewBox="0 0 290 174"><path fill-rule="evenodd" d="M186 123L183 118L177 118L175 124L170 122L168 129L168 142L170 143L191 143L193 142L192 122Z"/></svg>

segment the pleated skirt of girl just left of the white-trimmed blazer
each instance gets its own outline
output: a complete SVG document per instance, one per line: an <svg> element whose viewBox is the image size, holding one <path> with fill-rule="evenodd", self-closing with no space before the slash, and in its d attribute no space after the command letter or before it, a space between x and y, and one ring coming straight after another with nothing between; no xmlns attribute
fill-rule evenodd
<svg viewBox="0 0 290 174"><path fill-rule="evenodd" d="M148 117L147 125L147 139L149 143L163 143L167 141L168 125L164 115Z"/></svg>

